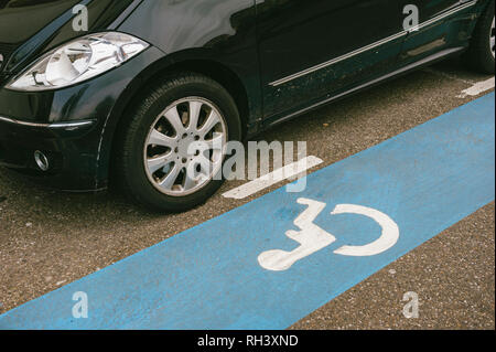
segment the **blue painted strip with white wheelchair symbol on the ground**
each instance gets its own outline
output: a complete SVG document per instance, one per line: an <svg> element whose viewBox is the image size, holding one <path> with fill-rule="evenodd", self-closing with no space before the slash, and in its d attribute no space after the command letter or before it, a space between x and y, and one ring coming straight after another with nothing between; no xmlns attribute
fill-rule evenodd
<svg viewBox="0 0 496 352"><path fill-rule="evenodd" d="M0 329L288 328L494 201L494 97L13 309ZM73 317L76 292L88 318Z"/></svg>

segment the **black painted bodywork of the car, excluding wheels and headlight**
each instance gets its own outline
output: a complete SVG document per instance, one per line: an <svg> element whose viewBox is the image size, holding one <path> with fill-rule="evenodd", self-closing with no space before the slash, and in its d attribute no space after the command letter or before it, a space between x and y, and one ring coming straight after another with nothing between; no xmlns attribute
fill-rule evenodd
<svg viewBox="0 0 496 352"><path fill-rule="evenodd" d="M8 89L7 82L36 57L87 34L73 30L75 3L87 6L90 33L117 30L150 46L122 66L75 86L31 93ZM402 8L407 3L421 9L422 23L432 23L405 31ZM121 116L132 98L164 72L196 71L226 83L235 90L249 137L462 51L488 1L445 15L466 3L473 1L0 1L0 29L11 28L15 11L23 7L43 13L18 36L0 31L0 163L30 170L64 190L103 189ZM12 11L12 4L19 8ZM380 45L367 49L374 43ZM65 121L93 124L50 127ZM53 158L50 172L36 171L35 150Z"/></svg>

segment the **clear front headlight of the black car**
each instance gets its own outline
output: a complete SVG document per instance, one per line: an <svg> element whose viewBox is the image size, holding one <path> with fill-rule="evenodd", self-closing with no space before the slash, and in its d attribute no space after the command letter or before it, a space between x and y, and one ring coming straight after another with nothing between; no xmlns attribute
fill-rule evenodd
<svg viewBox="0 0 496 352"><path fill-rule="evenodd" d="M117 32L82 36L43 55L7 87L29 92L66 87L117 67L148 46Z"/></svg>

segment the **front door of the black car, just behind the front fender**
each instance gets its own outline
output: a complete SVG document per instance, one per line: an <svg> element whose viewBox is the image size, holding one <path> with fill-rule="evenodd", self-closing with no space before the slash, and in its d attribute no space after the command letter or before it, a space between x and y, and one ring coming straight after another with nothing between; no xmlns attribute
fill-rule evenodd
<svg viewBox="0 0 496 352"><path fill-rule="evenodd" d="M266 122L391 70L403 40L396 0L257 1Z"/></svg>

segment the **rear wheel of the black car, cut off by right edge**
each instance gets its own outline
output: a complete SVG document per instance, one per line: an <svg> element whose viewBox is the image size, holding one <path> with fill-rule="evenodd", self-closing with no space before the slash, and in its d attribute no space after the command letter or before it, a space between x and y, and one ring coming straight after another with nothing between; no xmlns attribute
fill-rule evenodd
<svg viewBox="0 0 496 352"><path fill-rule="evenodd" d="M479 18L467 52L465 61L473 70L485 73L495 73L495 15L494 1L490 1L487 9Z"/></svg>

